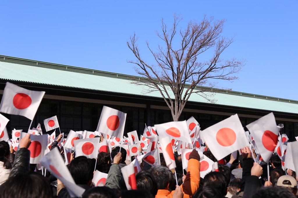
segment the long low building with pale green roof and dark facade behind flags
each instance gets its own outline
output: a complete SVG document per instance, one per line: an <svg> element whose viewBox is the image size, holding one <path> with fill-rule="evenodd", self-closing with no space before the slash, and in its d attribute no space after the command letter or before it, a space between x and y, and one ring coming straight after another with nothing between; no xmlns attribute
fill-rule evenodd
<svg viewBox="0 0 298 198"><path fill-rule="evenodd" d="M142 134L145 123L153 126L172 121L170 110L158 92L144 95L143 87L131 83L138 76L3 55L0 55L0 69L0 97L7 81L46 92L32 123L32 127L41 123L43 131L43 120L55 115L61 132L95 131L103 105L127 113L125 133L136 130ZM284 125L282 133L291 141L298 136L298 101L226 90L218 90L214 98L217 102L210 103L193 94L180 120L193 116L205 129L237 113L245 127L273 112L277 124ZM13 128L28 130L29 119L4 115L10 119L8 133Z"/></svg>

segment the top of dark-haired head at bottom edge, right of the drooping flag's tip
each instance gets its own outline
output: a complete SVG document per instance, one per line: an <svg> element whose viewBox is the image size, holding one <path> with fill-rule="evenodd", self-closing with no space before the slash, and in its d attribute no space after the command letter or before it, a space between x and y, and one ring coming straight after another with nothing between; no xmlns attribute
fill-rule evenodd
<svg viewBox="0 0 298 198"><path fill-rule="evenodd" d="M114 189L106 186L94 187L84 192L82 198L118 198Z"/></svg>

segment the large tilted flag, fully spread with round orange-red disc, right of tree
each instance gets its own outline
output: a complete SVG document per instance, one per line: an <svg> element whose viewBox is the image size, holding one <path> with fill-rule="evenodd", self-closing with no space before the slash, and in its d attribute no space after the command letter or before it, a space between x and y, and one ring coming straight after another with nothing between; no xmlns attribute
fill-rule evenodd
<svg viewBox="0 0 298 198"><path fill-rule="evenodd" d="M249 144L237 114L208 127L201 136L217 160Z"/></svg>

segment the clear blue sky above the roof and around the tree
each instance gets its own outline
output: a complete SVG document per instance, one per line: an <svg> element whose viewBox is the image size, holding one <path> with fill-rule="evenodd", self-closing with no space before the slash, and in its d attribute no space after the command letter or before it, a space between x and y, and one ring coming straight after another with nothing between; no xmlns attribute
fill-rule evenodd
<svg viewBox="0 0 298 198"><path fill-rule="evenodd" d="M219 86L298 100L297 0L289 1L2 1L0 54L137 75L126 41L136 32L142 56L162 43L160 19L187 21L204 14L227 19L224 36L235 42L223 58L244 58L234 83ZM153 62L152 62L153 63Z"/></svg>

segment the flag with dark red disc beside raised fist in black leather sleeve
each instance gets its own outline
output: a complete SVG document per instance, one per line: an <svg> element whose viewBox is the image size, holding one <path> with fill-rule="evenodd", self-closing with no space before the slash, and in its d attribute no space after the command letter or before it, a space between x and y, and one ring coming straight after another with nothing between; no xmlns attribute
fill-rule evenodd
<svg viewBox="0 0 298 198"><path fill-rule="evenodd" d="M28 148L30 150L30 164L39 164L39 161L46 152L48 135L30 136L31 144Z"/></svg>

